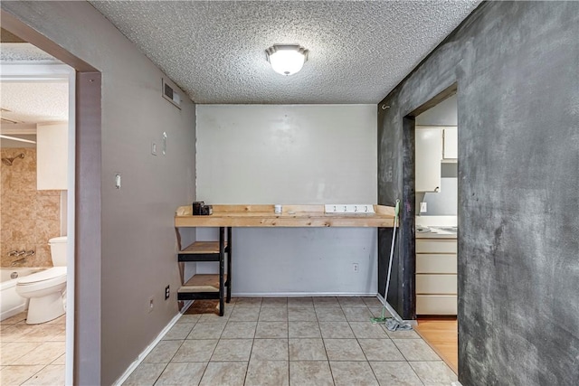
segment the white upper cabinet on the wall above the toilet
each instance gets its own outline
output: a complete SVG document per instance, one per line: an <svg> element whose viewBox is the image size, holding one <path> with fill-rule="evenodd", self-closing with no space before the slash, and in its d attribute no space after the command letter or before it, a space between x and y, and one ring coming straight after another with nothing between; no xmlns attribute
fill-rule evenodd
<svg viewBox="0 0 579 386"><path fill-rule="evenodd" d="M68 123L36 126L36 188L68 188Z"/></svg>

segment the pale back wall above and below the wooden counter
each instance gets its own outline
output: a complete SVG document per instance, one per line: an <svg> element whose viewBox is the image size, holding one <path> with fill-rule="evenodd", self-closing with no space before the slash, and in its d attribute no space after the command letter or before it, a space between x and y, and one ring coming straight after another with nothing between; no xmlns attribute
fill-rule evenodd
<svg viewBox="0 0 579 386"><path fill-rule="evenodd" d="M376 202L375 105L196 109L198 200ZM216 240L216 231L197 230L197 238ZM234 294L377 292L375 229L234 229L233 242Z"/></svg>

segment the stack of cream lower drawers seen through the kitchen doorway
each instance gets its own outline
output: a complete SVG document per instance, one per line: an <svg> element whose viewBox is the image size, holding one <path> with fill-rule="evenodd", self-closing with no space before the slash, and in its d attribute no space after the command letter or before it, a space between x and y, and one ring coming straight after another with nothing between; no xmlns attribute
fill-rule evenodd
<svg viewBox="0 0 579 386"><path fill-rule="evenodd" d="M456 239L416 239L416 314L456 315Z"/></svg>

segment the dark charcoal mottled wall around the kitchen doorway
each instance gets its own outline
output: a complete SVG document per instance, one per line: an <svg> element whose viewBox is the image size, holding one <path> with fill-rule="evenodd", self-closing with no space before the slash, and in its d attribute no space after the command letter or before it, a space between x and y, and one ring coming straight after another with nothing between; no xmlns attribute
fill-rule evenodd
<svg viewBox="0 0 579 386"><path fill-rule="evenodd" d="M378 106L379 203L402 197L404 224L413 158L403 117L458 87L465 386L579 384L578 36L578 2L482 4ZM392 291L406 317L411 240L403 230Z"/></svg>

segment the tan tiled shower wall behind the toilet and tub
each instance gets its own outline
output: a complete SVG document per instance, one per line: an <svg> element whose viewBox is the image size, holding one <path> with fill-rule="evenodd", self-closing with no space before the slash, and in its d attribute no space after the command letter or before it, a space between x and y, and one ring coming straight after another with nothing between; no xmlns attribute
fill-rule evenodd
<svg viewBox="0 0 579 386"><path fill-rule="evenodd" d="M61 192L36 190L36 149L4 148L0 153L2 158L24 154L11 166L0 164L0 265L51 267L48 240L60 236ZM22 256L8 256L11 250L34 250L34 255L13 265Z"/></svg>

